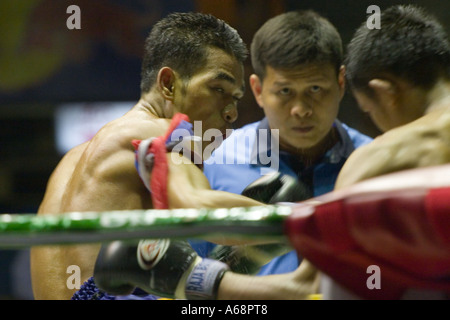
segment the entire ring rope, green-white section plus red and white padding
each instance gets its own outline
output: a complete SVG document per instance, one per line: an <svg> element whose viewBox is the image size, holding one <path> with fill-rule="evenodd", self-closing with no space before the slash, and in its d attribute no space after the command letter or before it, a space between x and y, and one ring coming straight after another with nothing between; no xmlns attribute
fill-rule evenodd
<svg viewBox="0 0 450 320"><path fill-rule="evenodd" d="M0 214L0 248L272 237L363 298L398 299L405 288L450 294L449 177L450 165L415 169L258 207ZM367 287L368 266L382 271L382 290Z"/></svg>

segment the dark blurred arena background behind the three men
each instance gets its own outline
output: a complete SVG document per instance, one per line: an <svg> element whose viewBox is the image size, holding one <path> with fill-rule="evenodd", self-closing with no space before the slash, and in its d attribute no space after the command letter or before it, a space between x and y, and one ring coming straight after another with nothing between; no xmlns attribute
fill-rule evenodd
<svg viewBox="0 0 450 320"><path fill-rule="evenodd" d="M145 37L168 13L211 13L250 45L267 19L313 9L336 26L346 45L367 19L368 6L402 3L427 8L449 29L448 0L1 0L0 213L35 213L64 153L136 103ZM81 10L79 30L66 26L73 4ZM248 79L249 60L245 67ZM239 112L237 127L263 116L250 91ZM379 134L349 93L339 118ZM0 299L33 299L28 255L0 248Z"/></svg>

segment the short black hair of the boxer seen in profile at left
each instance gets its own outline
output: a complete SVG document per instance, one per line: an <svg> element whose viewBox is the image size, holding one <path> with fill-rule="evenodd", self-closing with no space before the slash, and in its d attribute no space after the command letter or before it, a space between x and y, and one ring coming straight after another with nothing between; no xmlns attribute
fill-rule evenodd
<svg viewBox="0 0 450 320"><path fill-rule="evenodd" d="M141 70L141 92L155 83L159 70L170 67L183 79L204 65L208 49L224 50L243 63L248 51L230 25L209 14L172 13L158 21L145 41Z"/></svg>

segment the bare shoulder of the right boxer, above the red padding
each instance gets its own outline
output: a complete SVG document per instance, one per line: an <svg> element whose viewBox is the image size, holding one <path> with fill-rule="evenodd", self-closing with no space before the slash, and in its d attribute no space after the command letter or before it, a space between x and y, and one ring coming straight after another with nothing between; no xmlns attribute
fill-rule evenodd
<svg viewBox="0 0 450 320"><path fill-rule="evenodd" d="M450 162L450 116L422 117L358 148L341 170L336 188L372 177Z"/></svg>

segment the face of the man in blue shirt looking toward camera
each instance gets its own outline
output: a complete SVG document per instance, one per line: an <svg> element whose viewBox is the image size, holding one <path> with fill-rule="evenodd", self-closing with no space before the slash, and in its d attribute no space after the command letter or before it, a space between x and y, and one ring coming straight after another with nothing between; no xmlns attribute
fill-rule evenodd
<svg viewBox="0 0 450 320"><path fill-rule="evenodd" d="M271 129L279 129L280 148L298 152L313 148L329 134L344 95L344 68L331 64L295 69L266 68L263 81L250 78L253 94Z"/></svg>

